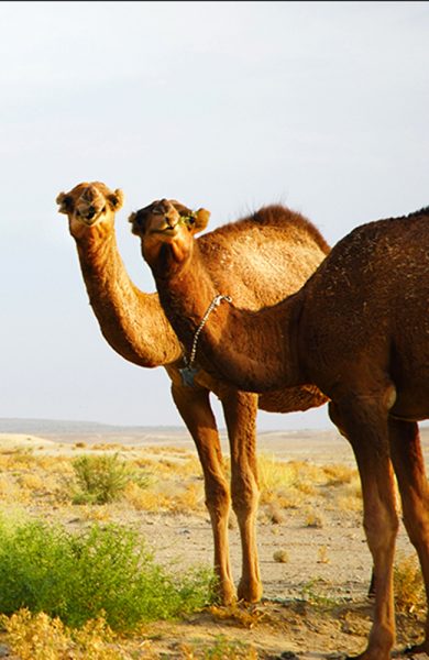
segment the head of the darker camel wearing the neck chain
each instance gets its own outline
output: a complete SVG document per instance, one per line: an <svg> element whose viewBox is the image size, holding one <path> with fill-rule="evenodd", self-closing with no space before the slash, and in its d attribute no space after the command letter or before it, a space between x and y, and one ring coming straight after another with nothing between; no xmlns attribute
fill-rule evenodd
<svg viewBox="0 0 429 660"><path fill-rule="evenodd" d="M140 237L142 254L160 273L167 263L183 266L194 249L194 235L210 218L206 209L193 211L175 199L160 199L131 213L132 233Z"/></svg>

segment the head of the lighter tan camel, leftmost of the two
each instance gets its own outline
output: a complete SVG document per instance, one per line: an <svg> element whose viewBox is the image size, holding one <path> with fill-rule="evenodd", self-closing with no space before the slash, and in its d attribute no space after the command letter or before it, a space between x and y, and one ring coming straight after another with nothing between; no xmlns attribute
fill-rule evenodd
<svg viewBox="0 0 429 660"><path fill-rule="evenodd" d="M82 183L56 198L58 213L68 216L70 233L75 238L101 223L114 222L114 213L123 204L122 190L110 190L100 182Z"/></svg>

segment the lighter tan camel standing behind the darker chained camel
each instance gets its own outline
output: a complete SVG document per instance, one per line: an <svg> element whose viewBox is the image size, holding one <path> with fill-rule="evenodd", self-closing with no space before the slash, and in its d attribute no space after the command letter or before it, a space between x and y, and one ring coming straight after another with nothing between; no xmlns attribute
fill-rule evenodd
<svg viewBox="0 0 429 660"><path fill-rule="evenodd" d="M164 366L172 395L196 443L205 477L206 505L215 541L215 569L223 603L235 597L230 568L228 519L232 497L242 543L242 575L238 595L256 602L262 595L255 519L258 487L256 472L256 413L288 413L320 406L327 399L316 387L284 388L266 395L238 391L221 378L199 370L184 384L183 349L160 305L157 294L141 292L130 279L118 252L114 213L122 206L121 190L101 183L82 183L57 197L59 212L68 216L76 241L89 301L108 343L125 360L140 366ZM275 209L262 210L260 221L229 232L215 231L198 240L207 267L230 283L234 299L250 309L271 305L298 289L329 251L309 222ZM270 261L261 262L257 245L271 245ZM254 252L249 248L254 246ZM185 370L185 374L187 370ZM221 402L231 449L231 495L224 475L220 440L210 393Z"/></svg>

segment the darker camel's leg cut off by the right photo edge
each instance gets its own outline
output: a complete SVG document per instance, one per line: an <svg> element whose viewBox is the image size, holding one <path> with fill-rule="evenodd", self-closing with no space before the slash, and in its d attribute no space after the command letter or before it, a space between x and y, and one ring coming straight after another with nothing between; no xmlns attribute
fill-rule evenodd
<svg viewBox="0 0 429 660"><path fill-rule="evenodd" d="M429 613L429 488L421 453L418 425L389 419L391 453L403 503L404 525L417 550L424 576ZM429 616L425 639L407 649L408 653L429 654Z"/></svg>

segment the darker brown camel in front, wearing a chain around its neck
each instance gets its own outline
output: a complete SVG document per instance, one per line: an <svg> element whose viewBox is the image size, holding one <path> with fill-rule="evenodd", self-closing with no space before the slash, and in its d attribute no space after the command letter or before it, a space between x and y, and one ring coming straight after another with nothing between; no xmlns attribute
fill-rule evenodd
<svg viewBox="0 0 429 660"><path fill-rule="evenodd" d="M230 292L212 278L193 238L207 218L162 200L131 221L173 328L188 352L197 341L213 377L253 392L312 383L329 397L330 417L356 458L376 575L374 622L358 658L387 660L395 642L394 475L429 598L429 491L417 424L429 417L429 207L359 227L298 293L256 312L233 293L232 301L219 298ZM265 246L258 249L263 260ZM408 651L429 654L428 619L424 641Z"/></svg>

